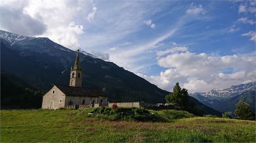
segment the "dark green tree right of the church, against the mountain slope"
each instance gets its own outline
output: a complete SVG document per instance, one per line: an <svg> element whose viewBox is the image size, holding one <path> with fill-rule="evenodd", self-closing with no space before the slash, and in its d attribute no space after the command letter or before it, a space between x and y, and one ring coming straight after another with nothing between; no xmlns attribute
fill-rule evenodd
<svg viewBox="0 0 256 143"><path fill-rule="evenodd" d="M173 87L173 93L165 97L167 103L172 103L184 109L188 105L189 95L187 89L181 89L179 82Z"/></svg>

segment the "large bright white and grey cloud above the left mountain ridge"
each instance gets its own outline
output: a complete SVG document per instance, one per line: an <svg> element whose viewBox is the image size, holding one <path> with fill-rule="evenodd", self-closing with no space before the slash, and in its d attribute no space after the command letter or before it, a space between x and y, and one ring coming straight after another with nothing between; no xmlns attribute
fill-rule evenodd
<svg viewBox="0 0 256 143"><path fill-rule="evenodd" d="M79 37L84 33L83 25L76 21L89 5L81 1L5 1L1 3L1 28L14 33L48 37L54 42L71 48L79 47ZM81 7L80 7L81 6ZM7 7L9 10L3 10ZM6 13L4 13L6 12ZM15 12L15 13L13 13ZM17 25L19 24L19 25Z"/></svg>

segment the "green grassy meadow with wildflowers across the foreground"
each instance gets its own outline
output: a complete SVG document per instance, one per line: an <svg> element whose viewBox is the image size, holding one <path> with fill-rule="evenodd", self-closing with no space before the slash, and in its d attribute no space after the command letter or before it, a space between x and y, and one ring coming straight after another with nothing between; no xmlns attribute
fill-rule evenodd
<svg viewBox="0 0 256 143"><path fill-rule="evenodd" d="M2 110L0 141L255 142L255 121L193 117L173 110L154 111L166 122L107 121L88 117L89 111Z"/></svg>

